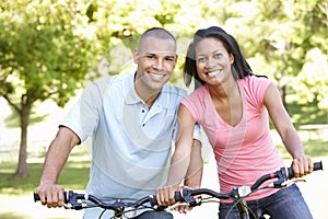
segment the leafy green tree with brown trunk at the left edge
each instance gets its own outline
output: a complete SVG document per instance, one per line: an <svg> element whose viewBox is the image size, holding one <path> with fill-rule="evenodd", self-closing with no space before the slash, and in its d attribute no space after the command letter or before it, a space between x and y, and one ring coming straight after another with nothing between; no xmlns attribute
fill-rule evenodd
<svg viewBox="0 0 328 219"><path fill-rule="evenodd" d="M79 10L80 9L80 10ZM27 127L35 103L63 106L83 84L93 57L85 9L75 2L0 3L0 95L19 114L21 143L14 177L28 176Z"/></svg>

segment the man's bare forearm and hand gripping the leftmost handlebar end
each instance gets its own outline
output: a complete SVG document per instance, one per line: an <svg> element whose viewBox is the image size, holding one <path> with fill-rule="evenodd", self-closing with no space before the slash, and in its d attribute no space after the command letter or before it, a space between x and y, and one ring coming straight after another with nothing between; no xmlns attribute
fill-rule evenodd
<svg viewBox="0 0 328 219"><path fill-rule="evenodd" d="M80 142L80 138L69 128L60 127L48 149L39 186L36 193L43 205L61 207L63 205L63 188L57 185L72 148Z"/></svg>

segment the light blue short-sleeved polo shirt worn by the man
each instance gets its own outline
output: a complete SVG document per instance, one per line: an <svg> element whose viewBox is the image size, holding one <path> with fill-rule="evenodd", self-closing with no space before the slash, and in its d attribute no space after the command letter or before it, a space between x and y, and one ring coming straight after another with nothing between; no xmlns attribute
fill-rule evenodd
<svg viewBox="0 0 328 219"><path fill-rule="evenodd" d="M91 83L61 123L81 142L92 138L86 193L105 200L137 200L165 184L177 110L187 95L166 83L149 110L134 91L133 78L117 74Z"/></svg>

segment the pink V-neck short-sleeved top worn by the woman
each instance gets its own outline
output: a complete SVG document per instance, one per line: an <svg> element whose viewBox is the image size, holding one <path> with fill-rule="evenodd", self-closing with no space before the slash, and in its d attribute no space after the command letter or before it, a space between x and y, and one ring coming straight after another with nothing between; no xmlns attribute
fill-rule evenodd
<svg viewBox="0 0 328 219"><path fill-rule="evenodd" d="M260 176L284 165L273 145L263 105L271 81L253 76L237 82L243 99L243 117L234 127L216 113L207 84L181 102L202 126L213 148L221 193L227 193L235 186L253 185ZM262 189L246 199L259 199L274 192L277 189Z"/></svg>

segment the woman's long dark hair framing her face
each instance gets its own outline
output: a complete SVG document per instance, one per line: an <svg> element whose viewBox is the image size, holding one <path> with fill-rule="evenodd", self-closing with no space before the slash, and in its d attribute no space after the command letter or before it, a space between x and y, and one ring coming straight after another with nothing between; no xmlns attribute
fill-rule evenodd
<svg viewBox="0 0 328 219"><path fill-rule="evenodd" d="M209 28L198 30L194 35L194 41L188 47L184 65L184 80L187 87L190 85L192 78L195 80L195 89L204 84L197 73L195 47L201 39L207 37L214 37L221 41L227 53L234 56L232 73L235 80L243 79L246 76L253 76L251 68L243 56L236 39L232 35L227 34L223 28L211 26Z"/></svg>

